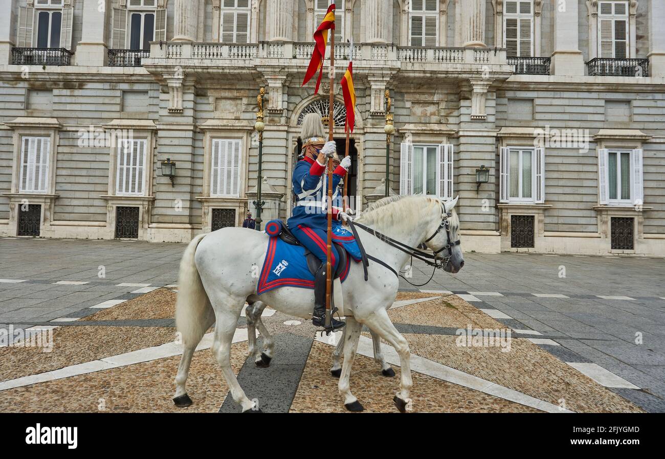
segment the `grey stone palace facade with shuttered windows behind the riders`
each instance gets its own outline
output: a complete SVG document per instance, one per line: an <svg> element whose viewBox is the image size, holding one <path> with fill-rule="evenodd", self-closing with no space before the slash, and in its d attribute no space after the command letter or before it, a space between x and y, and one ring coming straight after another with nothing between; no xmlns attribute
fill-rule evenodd
<svg viewBox="0 0 665 459"><path fill-rule="evenodd" d="M263 221L287 217L299 123L329 109L326 76L301 86L328 3L0 0L0 234L182 242L241 225L261 87ZM665 255L665 1L336 7L357 209L385 194L387 154L390 193L460 196L464 250Z"/></svg>

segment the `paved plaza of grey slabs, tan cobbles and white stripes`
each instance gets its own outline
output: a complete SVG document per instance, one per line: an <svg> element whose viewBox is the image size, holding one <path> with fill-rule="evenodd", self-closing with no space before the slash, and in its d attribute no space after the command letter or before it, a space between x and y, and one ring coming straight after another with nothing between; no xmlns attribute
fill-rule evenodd
<svg viewBox="0 0 665 459"><path fill-rule="evenodd" d="M52 329L54 348L0 349L0 399L7 401L0 411L96 411L98 399L113 411L175 410L172 318L184 247L1 238L0 329ZM664 259L465 258L461 272L436 272L426 286L402 280L389 312L411 347L414 411L665 412ZM422 284L431 274L416 264L408 280ZM233 369L248 396L264 411L343 411L328 371L335 338L274 310L263 320L276 341L268 369L247 360L244 318L234 338ZM510 351L456 345L467 324L510 329ZM352 389L367 411L395 411L398 381L381 376L368 336L358 347ZM204 338L192 364L191 408L239 411L209 345ZM399 374L394 351L384 351ZM72 387L82 391L78 402L59 401ZM132 403L121 401L122 390ZM321 391L332 405L315 405Z"/></svg>

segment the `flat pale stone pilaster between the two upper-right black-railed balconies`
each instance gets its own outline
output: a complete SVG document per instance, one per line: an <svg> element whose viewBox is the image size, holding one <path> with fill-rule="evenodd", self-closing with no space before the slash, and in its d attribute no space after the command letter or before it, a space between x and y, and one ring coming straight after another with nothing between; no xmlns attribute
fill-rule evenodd
<svg viewBox="0 0 665 459"><path fill-rule="evenodd" d="M584 75L584 58L579 50L577 2L568 1L554 11L553 75Z"/></svg>

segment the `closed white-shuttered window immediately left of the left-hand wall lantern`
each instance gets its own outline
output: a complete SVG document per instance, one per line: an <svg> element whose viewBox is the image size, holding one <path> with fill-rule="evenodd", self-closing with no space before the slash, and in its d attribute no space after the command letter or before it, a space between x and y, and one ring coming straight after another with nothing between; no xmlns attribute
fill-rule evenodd
<svg viewBox="0 0 665 459"><path fill-rule="evenodd" d="M118 139L116 195L142 196L146 169L146 139Z"/></svg>

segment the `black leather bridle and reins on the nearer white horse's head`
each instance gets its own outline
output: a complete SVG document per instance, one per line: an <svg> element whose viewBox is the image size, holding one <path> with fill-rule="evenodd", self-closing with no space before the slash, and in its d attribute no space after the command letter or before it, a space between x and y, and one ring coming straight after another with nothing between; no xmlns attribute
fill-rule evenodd
<svg viewBox="0 0 665 459"><path fill-rule="evenodd" d="M458 245L461 244L459 238L457 240L452 240L452 234L450 232L450 217L452 217L452 211L451 212L446 211L446 206L442 204L441 223L440 223L439 227L434 231L434 234L432 234L432 236L428 237L423 242L423 244L426 244L427 242L430 242L430 240L434 239L434 237L436 237L436 235L439 234L442 230L444 230L444 229L446 230L447 244L442 246L438 250L434 250L434 254L424 252L423 250L420 250L420 248L417 248L417 247L408 246L408 245L404 244L403 242L400 242L398 240L395 240L395 239L391 238L390 236L386 236L385 234L382 234L382 233L378 232L375 229L372 229L370 227L366 227L365 225L362 225L362 223L349 221L348 225L351 228L351 231L353 232L353 235L354 235L356 241L358 241L358 246L360 247L360 251L363 254L362 262L363 262L363 267L364 267L364 270L365 270L365 280L367 280L367 268L366 268L367 261L366 260L368 258L370 260L374 260L374 261L378 262L379 264L382 264L383 266L386 266L392 272L394 272L396 275L398 275L398 273L392 267L390 267L386 263L382 262L382 260L378 260L378 258L374 258L373 256L370 256L370 255L367 255L367 254L364 253L364 248L362 248L362 243L360 242L360 238L358 238L358 234L356 232L355 227L358 227L360 229L364 229L365 231L369 232L370 234L372 234L373 236L375 236L379 240L382 240L383 242L386 242L386 244L388 244L388 245L390 245L394 248L397 248L398 250L401 250L402 252L404 252L406 254L409 254L411 256L411 258L417 258L418 260L421 260L422 262L425 262L429 266L432 266L434 268L432 270L432 276L430 277L430 280L432 280L432 278L434 277L434 272L436 271L436 269L443 269L443 268L446 267L446 265L448 265L448 262L450 261L450 258L452 257L452 254L453 254L453 247L458 246ZM448 256L446 256L445 258L439 256L439 254L441 252L443 252L444 250L448 250ZM404 278L404 276L402 276L402 278ZM404 278L404 279L406 280L406 282L409 282L408 279L406 279L406 278ZM430 280L425 282L425 284L430 282ZM411 282L409 282L409 284L411 284ZM421 284L421 285L425 285L425 284ZM416 284L412 284L412 285L415 286Z"/></svg>

